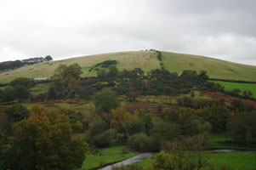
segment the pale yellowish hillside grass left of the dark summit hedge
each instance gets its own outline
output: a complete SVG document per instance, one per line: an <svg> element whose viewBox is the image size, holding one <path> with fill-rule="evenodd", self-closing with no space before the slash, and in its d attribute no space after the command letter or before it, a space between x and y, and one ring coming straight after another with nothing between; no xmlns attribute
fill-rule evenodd
<svg viewBox="0 0 256 170"><path fill-rule="evenodd" d="M36 65L26 65L19 69L0 72L0 83L8 83L16 77L52 77L54 70L59 65L71 65L78 63L82 67L82 77L96 76L96 71L88 71L92 66L105 60L116 59L117 68L120 70L132 70L134 68L143 68L144 71L160 68L159 61L154 51L121 52L111 54L97 54L71 59L51 61Z"/></svg>

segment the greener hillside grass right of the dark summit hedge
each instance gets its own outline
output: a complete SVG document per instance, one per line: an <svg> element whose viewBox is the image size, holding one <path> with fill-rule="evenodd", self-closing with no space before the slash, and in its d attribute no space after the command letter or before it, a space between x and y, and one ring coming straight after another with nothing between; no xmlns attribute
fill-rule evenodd
<svg viewBox="0 0 256 170"><path fill-rule="evenodd" d="M252 65L240 65L220 59L169 52L162 52L162 62L165 69L179 74L184 70L207 71L211 78L256 81L256 66Z"/></svg>

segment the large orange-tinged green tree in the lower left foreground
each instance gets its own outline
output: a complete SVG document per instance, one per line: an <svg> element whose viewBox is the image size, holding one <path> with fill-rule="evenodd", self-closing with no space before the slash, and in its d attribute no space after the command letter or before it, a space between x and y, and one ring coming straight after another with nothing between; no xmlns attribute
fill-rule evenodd
<svg viewBox="0 0 256 170"><path fill-rule="evenodd" d="M24 169L76 169L87 144L71 139L68 116L56 110L32 108L31 116L14 127L14 157Z"/></svg>

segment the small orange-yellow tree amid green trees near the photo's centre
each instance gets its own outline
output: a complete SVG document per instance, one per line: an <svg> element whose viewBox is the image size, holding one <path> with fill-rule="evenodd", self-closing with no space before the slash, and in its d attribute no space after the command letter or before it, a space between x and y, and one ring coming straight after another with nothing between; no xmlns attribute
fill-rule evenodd
<svg viewBox="0 0 256 170"><path fill-rule="evenodd" d="M111 126L117 128L118 131L124 129L124 123L128 121L130 114L122 108L111 111Z"/></svg>

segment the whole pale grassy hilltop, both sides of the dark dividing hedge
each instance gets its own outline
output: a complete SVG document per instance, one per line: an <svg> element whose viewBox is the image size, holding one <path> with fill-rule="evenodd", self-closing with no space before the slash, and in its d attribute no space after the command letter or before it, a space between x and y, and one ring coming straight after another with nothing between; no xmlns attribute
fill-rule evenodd
<svg viewBox="0 0 256 170"><path fill-rule="evenodd" d="M151 71L160 68L160 61L155 51L120 52L111 54L89 55L71 59L52 61L48 64L27 65L14 71L1 72L0 83L8 83L16 77L51 77L54 70L60 65L71 65L78 63L82 67L82 77L96 76L96 71L88 71L93 65L105 60L117 60L119 70L142 68L144 71ZM176 54L162 52L162 62L168 71L177 71L179 74L184 70L208 71L211 78L255 81L256 66L240 65L220 59L208 57Z"/></svg>

